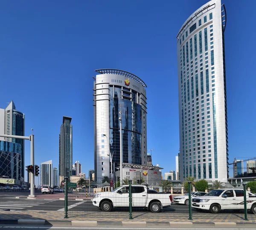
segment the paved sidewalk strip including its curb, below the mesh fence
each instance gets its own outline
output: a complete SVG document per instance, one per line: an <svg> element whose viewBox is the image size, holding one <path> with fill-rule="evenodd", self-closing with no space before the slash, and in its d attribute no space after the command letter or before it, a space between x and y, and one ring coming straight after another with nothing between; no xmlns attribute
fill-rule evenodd
<svg viewBox="0 0 256 230"><path fill-rule="evenodd" d="M102 226L103 223L105 225L118 225L118 226L127 226L127 224L131 225L139 225L141 227L145 226L173 226L172 224L210 224L210 225L236 225L236 224L256 224L256 216L253 215L248 217L249 221L245 221L242 219L242 216L238 216L238 219L231 219L229 216L223 218L222 216L218 216L218 218L212 219L195 219L196 216L193 217L193 220L188 220L188 218L166 218L167 216L161 215L160 216L152 216L150 218L143 218L140 217L140 213L134 213L133 216L135 217L132 220L129 220L129 213L122 213L122 218L115 217L117 216L113 213L101 213L98 217L91 216L90 212L80 215L80 216L71 216L74 213L70 212L68 215L70 217L68 219L64 219L64 212L63 211L39 211L39 210L24 210L24 211L0 211L0 224L19 224L26 222L31 222L32 224L64 224L64 225L83 225L83 226ZM163 213L162 213L163 214ZM102 216L100 216L102 215ZM137 216L137 217L136 217ZM212 215L211 215L212 216ZM199 216L198 216L199 217ZM201 216L202 218L202 216ZM21 221L23 220L23 221ZM37 220L37 221L35 221ZM218 226L219 226L218 225Z"/></svg>

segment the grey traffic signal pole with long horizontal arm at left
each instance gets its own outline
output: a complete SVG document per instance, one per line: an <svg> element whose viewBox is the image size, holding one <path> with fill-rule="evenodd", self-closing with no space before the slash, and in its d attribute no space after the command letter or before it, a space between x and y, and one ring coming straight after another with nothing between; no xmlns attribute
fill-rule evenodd
<svg viewBox="0 0 256 230"><path fill-rule="evenodd" d="M25 140L30 140L31 141L31 148L30 148L30 162L31 165L33 165L33 170L34 170L34 135L30 136L17 136L17 135L6 135L6 134L0 134L0 137L6 137L6 138L17 138L17 139L25 139ZM35 177L34 177L34 172L31 173L31 182L30 182L30 195L29 197L35 197Z"/></svg>

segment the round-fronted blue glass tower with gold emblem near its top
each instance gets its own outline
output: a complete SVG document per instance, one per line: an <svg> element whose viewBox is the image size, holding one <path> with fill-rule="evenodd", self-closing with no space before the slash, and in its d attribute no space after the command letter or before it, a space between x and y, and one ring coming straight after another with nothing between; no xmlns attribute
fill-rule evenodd
<svg viewBox="0 0 256 230"><path fill-rule="evenodd" d="M94 169L95 179L109 176L120 163L119 117L122 111L123 163L147 165L145 83L117 69L99 69L94 78Z"/></svg>

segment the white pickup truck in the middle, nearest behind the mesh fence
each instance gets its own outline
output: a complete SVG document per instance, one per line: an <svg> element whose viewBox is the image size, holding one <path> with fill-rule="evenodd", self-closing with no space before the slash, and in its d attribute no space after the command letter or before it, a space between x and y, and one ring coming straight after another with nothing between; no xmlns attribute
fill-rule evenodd
<svg viewBox="0 0 256 230"><path fill-rule="evenodd" d="M132 185L131 193L133 207L146 207L152 213L158 213L164 206L172 204L172 195L148 193L145 185ZM96 193L93 205L104 212L110 212L113 207L129 207L129 186L123 185L111 192Z"/></svg>

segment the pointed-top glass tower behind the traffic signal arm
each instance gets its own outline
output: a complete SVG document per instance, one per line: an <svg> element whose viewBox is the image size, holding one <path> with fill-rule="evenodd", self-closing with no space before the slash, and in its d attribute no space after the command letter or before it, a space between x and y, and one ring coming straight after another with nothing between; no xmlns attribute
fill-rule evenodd
<svg viewBox="0 0 256 230"><path fill-rule="evenodd" d="M16 110L13 101L11 101L5 109L0 109L0 133L6 135L25 136L25 115ZM24 139L0 137L0 140L14 142L21 145L21 170L19 170L19 172L21 172L20 176L24 179Z"/></svg>

